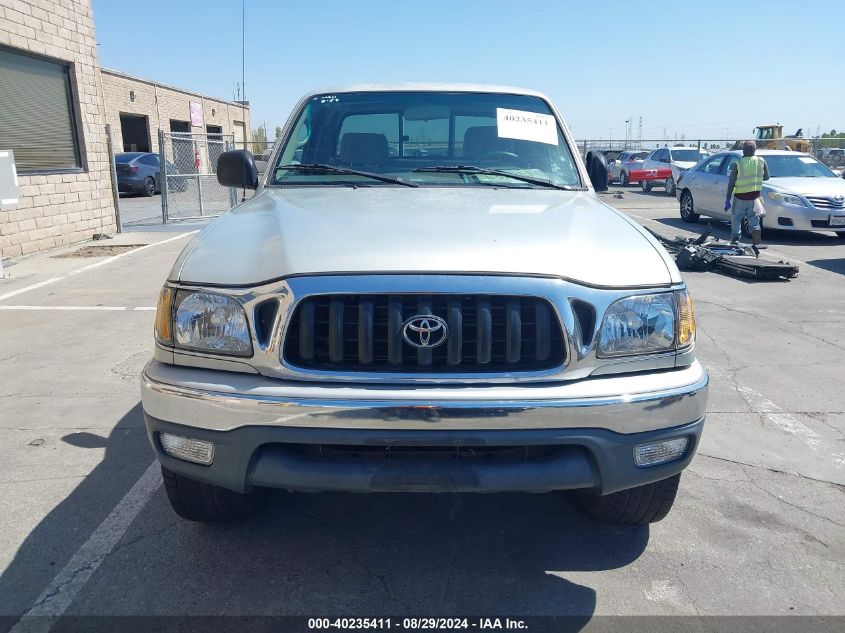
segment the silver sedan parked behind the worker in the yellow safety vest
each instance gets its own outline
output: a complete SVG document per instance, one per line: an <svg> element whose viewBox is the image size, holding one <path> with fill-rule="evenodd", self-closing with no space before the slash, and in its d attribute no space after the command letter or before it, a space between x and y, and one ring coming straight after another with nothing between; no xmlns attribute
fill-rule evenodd
<svg viewBox="0 0 845 633"><path fill-rule="evenodd" d="M763 228L836 231L845 237L845 181L808 154L758 150L757 155L771 176L763 183ZM684 222L697 222L701 215L730 219L725 211L728 173L741 157L742 152L721 152L683 174L676 197Z"/></svg>

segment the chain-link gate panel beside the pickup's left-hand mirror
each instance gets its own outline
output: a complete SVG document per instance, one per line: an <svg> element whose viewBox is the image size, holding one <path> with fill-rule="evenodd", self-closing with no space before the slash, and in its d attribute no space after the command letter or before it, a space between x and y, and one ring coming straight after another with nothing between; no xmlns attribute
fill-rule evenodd
<svg viewBox="0 0 845 633"><path fill-rule="evenodd" d="M165 223L220 215L235 206L235 189L217 182L217 160L234 146L231 134L159 132Z"/></svg>

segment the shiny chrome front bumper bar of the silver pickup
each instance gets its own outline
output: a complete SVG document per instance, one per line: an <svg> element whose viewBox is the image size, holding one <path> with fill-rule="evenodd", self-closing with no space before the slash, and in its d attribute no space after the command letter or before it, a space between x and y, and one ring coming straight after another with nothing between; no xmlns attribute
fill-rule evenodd
<svg viewBox="0 0 845 633"><path fill-rule="evenodd" d="M704 417L698 361L646 374L571 383L391 387L285 382L151 361L148 415L211 431L249 426L386 430L605 429L641 433Z"/></svg>

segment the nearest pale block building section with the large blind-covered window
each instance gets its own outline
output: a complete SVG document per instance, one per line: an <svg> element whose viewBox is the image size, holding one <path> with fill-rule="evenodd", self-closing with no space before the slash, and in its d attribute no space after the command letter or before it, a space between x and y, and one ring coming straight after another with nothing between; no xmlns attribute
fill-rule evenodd
<svg viewBox="0 0 845 633"><path fill-rule="evenodd" d="M0 149L20 193L0 256L115 231L105 124L90 1L0 0Z"/></svg>

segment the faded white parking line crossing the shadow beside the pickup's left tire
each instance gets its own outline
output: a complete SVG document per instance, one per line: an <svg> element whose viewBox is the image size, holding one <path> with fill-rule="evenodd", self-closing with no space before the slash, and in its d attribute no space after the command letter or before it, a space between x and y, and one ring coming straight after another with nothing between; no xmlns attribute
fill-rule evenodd
<svg viewBox="0 0 845 633"><path fill-rule="evenodd" d="M67 565L56 574L35 604L11 628L10 633L47 633L57 618L73 604L77 594L123 538L132 521L161 487L161 483L161 469L158 462L154 461Z"/></svg>

